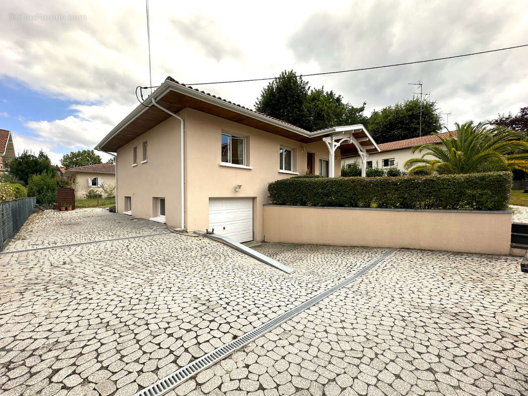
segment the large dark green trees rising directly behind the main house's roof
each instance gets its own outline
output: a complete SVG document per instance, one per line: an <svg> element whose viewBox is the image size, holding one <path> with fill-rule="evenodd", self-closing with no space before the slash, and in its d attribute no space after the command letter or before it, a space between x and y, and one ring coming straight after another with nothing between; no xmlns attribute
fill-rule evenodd
<svg viewBox="0 0 528 396"><path fill-rule="evenodd" d="M310 89L293 70L283 71L262 90L255 110L309 131L366 121L365 103L354 107L324 87Z"/></svg>

